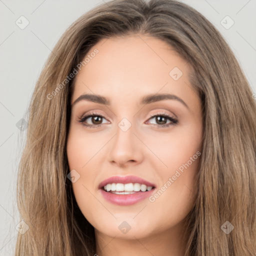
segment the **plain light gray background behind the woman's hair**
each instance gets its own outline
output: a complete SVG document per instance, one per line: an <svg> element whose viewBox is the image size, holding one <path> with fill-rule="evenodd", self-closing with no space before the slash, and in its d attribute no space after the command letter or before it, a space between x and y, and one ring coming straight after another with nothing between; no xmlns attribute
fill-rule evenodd
<svg viewBox="0 0 256 256"><path fill-rule="evenodd" d="M105 0L106 1L106 0ZM64 30L103 0L0 0L0 255L13 255L18 223L15 186L25 131L16 123L25 111L35 81ZM183 0L222 33L256 92L256 0ZM20 29L23 15L29 24ZM220 23L228 15L234 24ZM230 20L222 21L230 24Z"/></svg>

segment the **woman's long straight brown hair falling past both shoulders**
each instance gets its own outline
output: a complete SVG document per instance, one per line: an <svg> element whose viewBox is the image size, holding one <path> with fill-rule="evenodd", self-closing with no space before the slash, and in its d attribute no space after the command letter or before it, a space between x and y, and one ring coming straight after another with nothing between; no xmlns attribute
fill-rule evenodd
<svg viewBox="0 0 256 256"><path fill-rule="evenodd" d="M203 106L198 194L187 217L185 256L255 255L252 90L220 33L195 9L175 0L108 1L79 17L55 45L28 109L17 204L20 220L29 229L18 234L15 255L95 253L94 228L79 210L67 178L66 139L74 81L69 74L100 39L132 33L162 39L189 63L190 83ZM225 232L231 225L233 230Z"/></svg>

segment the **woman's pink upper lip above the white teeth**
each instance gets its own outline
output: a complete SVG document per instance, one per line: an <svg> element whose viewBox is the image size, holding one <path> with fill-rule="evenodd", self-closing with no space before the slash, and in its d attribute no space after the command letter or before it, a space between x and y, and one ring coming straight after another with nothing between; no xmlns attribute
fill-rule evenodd
<svg viewBox="0 0 256 256"><path fill-rule="evenodd" d="M104 187L106 184L108 183L140 183L140 184L145 184L147 186L154 186L155 185L143 178L137 177L137 176L133 176L133 175L128 175L128 176L111 176L105 180L103 180L102 182L99 183L98 188L102 188Z"/></svg>

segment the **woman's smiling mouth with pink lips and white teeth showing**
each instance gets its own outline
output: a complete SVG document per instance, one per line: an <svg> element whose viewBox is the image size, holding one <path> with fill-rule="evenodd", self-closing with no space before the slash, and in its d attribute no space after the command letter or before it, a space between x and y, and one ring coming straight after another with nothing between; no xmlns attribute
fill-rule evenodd
<svg viewBox="0 0 256 256"><path fill-rule="evenodd" d="M99 184L103 198L117 205L131 205L148 198L156 186L137 176L112 176Z"/></svg>

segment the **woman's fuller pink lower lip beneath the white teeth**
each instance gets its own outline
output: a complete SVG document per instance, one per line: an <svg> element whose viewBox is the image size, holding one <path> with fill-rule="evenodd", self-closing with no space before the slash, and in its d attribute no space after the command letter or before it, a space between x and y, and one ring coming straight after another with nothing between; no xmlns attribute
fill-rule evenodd
<svg viewBox="0 0 256 256"><path fill-rule="evenodd" d="M114 193L106 192L103 189L100 189L100 191L103 197L108 202L111 202L117 205L131 205L139 201L142 201L145 198L148 198L154 189L155 188L151 189L150 191L136 192L132 194L114 194Z"/></svg>

